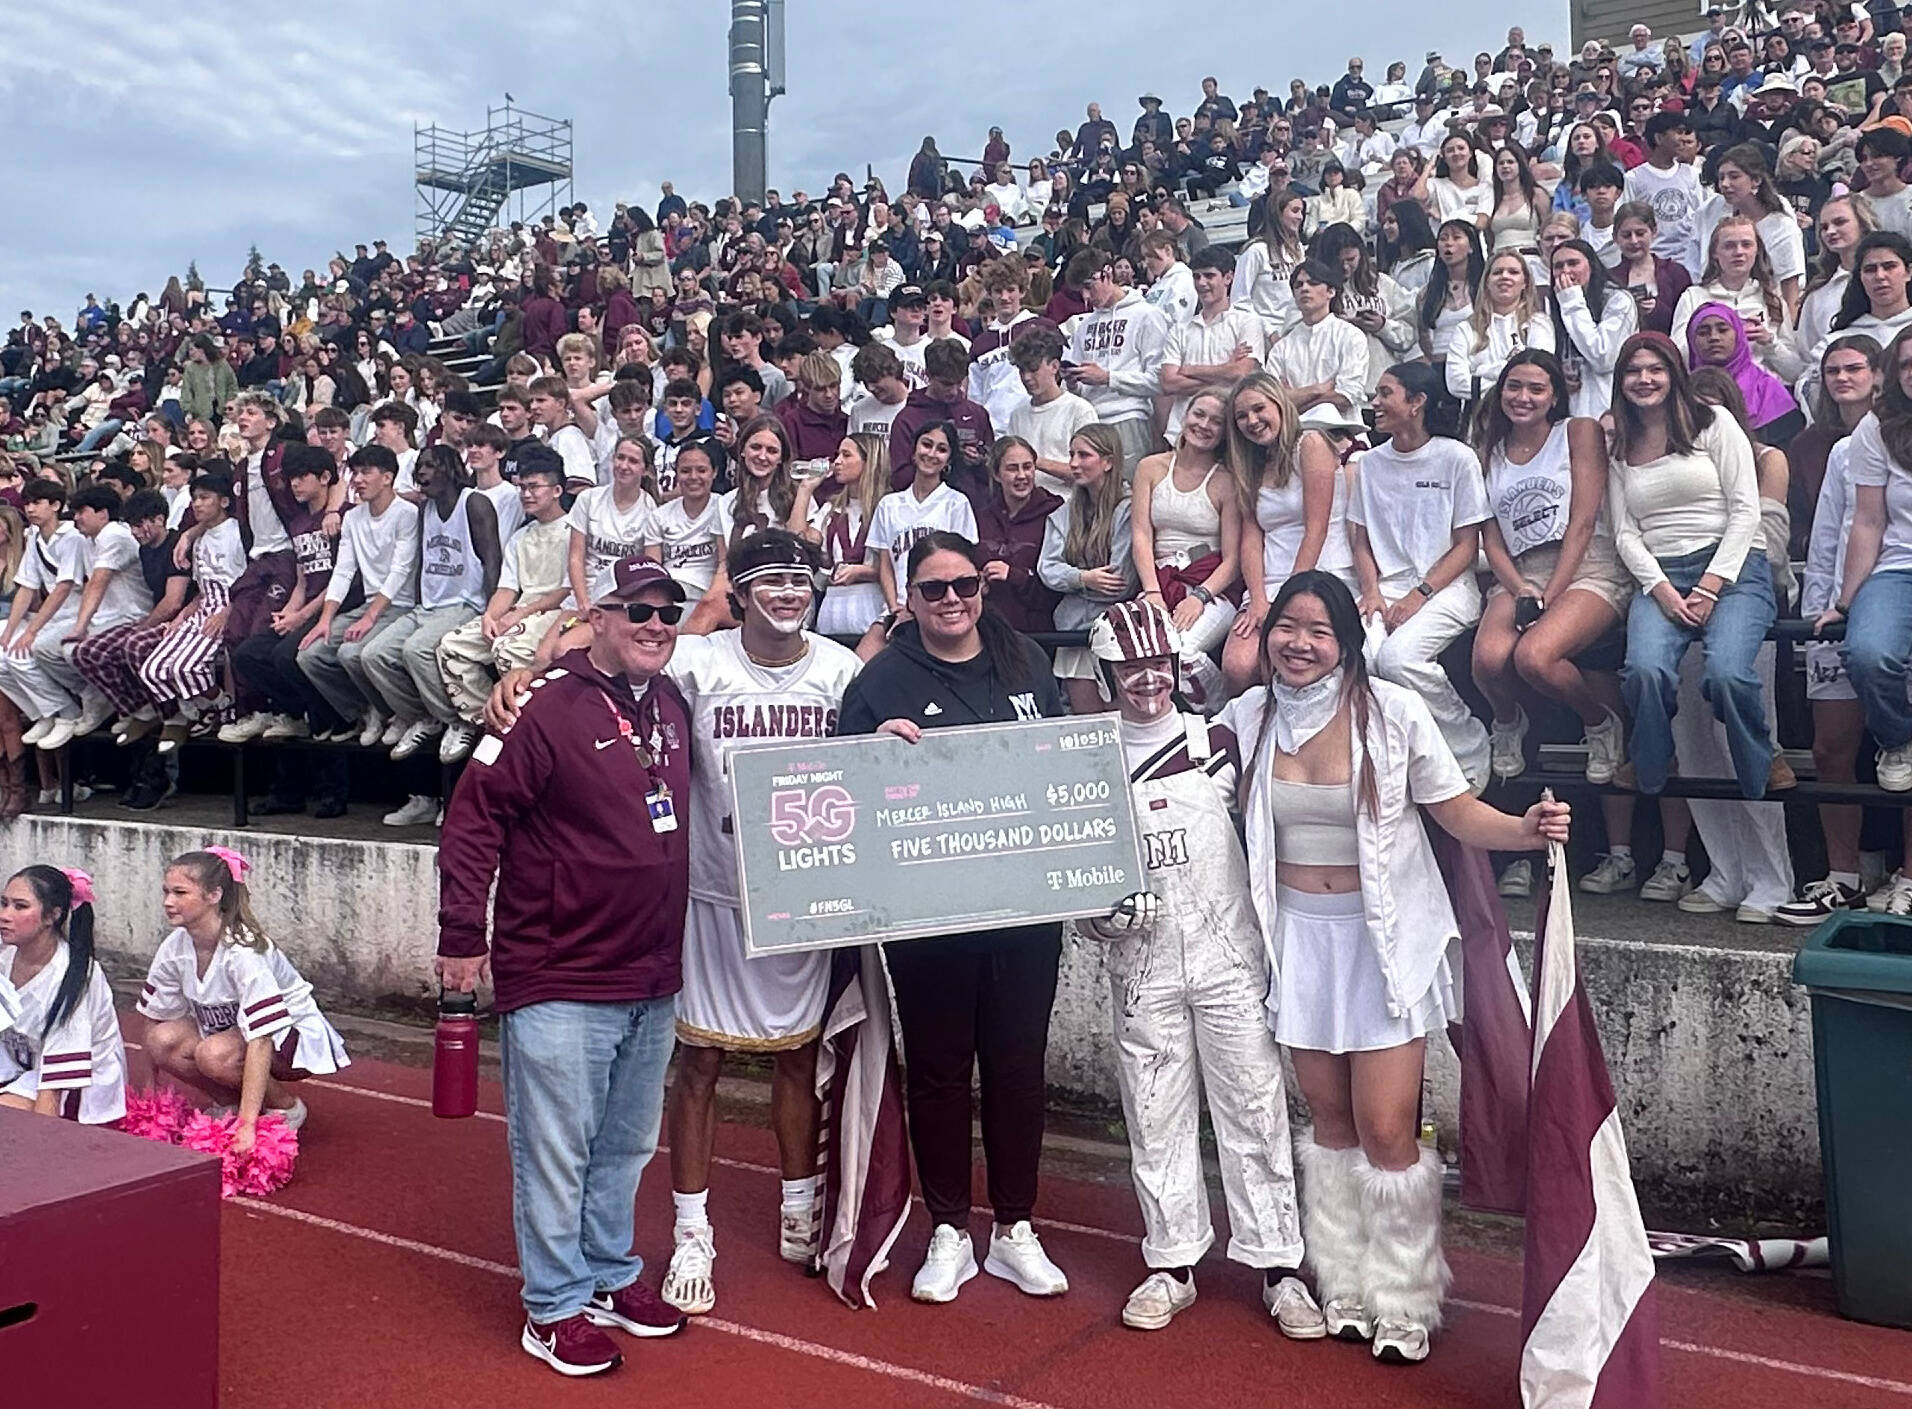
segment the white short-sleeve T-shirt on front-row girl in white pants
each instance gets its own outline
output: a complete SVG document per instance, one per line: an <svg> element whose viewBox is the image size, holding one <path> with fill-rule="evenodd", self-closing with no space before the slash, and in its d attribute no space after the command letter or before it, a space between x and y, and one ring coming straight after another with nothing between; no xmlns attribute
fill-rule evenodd
<svg viewBox="0 0 1912 1409"><path fill-rule="evenodd" d="M1480 457L1434 436L1405 455L1392 442L1361 457L1348 522L1367 530L1384 583L1417 581L1453 547L1453 531L1493 518Z"/></svg>

